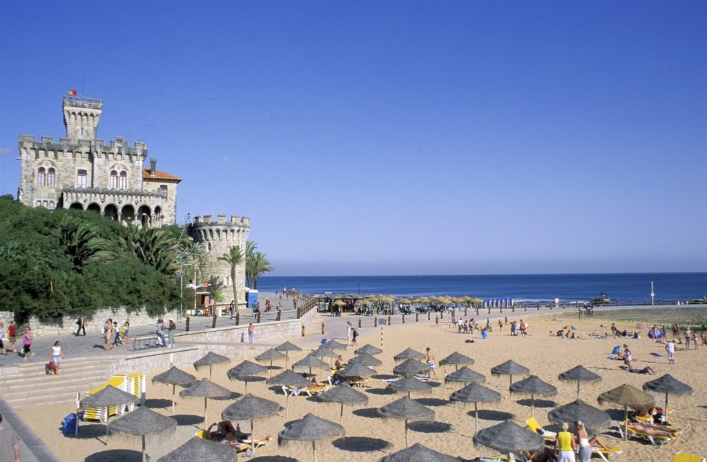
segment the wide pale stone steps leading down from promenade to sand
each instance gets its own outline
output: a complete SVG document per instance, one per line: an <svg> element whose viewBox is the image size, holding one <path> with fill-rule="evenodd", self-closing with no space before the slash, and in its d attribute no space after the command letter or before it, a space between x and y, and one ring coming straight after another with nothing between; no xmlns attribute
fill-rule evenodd
<svg viewBox="0 0 707 462"><path fill-rule="evenodd" d="M28 362L17 366L15 374L0 376L0 396L13 408L35 404L74 401L83 394L105 384L113 374L115 358L81 358L62 364L59 375L49 375L45 362Z"/></svg>

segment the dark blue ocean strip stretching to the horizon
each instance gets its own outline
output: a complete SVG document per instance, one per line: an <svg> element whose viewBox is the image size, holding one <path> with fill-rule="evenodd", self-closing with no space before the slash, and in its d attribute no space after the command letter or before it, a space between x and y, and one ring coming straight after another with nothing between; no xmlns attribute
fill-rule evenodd
<svg viewBox="0 0 707 462"><path fill-rule="evenodd" d="M482 299L518 301L583 301L607 294L620 302L650 303L650 283L655 301L707 297L707 273L604 273L520 274L482 276L261 276L258 289L298 288L306 293L347 292L392 295L469 295Z"/></svg>

